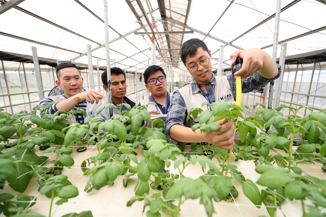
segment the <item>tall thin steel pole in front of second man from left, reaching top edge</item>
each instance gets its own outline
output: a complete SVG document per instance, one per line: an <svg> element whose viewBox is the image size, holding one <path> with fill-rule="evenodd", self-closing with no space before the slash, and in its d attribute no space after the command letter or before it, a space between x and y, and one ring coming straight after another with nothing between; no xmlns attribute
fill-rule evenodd
<svg viewBox="0 0 326 217"><path fill-rule="evenodd" d="M106 50L106 71L108 78L108 98L107 101L112 103L112 90L111 90L111 68L110 68L110 47L109 47L109 19L108 19L108 1L103 0L104 3L104 27L105 27L105 50ZM110 107L110 117L113 115L112 107Z"/></svg>

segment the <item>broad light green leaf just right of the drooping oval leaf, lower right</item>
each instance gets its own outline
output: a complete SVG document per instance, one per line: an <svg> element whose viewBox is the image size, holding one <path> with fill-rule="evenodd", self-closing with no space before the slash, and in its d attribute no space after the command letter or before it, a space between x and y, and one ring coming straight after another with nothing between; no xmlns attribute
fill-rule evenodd
<svg viewBox="0 0 326 217"><path fill-rule="evenodd" d="M257 184L262 186L268 186L272 188L277 188L282 185L285 185L291 181L289 177L286 176L285 173L278 171L276 172L273 169L265 171L257 181Z"/></svg>

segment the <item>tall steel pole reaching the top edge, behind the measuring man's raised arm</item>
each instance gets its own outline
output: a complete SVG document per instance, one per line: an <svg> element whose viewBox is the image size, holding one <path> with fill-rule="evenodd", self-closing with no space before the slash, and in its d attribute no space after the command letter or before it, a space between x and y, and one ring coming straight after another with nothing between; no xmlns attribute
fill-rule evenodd
<svg viewBox="0 0 326 217"><path fill-rule="evenodd" d="M277 0L277 2L276 2L276 12L275 12L273 54L272 54L274 62L276 62L276 55L277 55L278 32L279 32L279 27L280 27L280 15L281 15L281 0ZM273 91L274 91L274 81L270 82L269 95L268 95L268 106L267 106L268 108L272 108Z"/></svg>

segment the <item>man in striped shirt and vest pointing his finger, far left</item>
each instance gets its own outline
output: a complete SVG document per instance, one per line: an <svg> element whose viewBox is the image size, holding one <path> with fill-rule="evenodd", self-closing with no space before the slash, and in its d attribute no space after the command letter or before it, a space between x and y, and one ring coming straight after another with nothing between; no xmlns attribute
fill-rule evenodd
<svg viewBox="0 0 326 217"><path fill-rule="evenodd" d="M61 87L64 94L44 97L40 101L40 105L46 105L52 102L58 102L48 108L45 114L54 114L58 110L71 111L81 108L86 111L87 116L82 113L75 114L75 118L71 123L85 123L93 116L95 110L100 107L99 99L103 99L104 94L96 90L88 90L82 92L82 84L84 79L81 76L78 66L73 63L61 63L56 67L57 79L55 83Z"/></svg>

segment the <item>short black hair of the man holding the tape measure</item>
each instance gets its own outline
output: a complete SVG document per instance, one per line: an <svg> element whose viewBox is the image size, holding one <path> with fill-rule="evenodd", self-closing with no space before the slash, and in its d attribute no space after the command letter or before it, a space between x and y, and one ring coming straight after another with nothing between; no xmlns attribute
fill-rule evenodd
<svg viewBox="0 0 326 217"><path fill-rule="evenodd" d="M185 43L183 43L181 50L180 50L180 57L181 61L185 64L185 59L189 57L194 57L197 53L198 48L202 48L204 51L207 51L208 53L208 48L205 42L198 38L192 38Z"/></svg>

